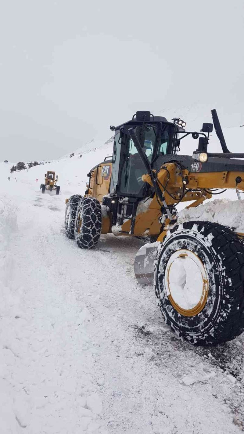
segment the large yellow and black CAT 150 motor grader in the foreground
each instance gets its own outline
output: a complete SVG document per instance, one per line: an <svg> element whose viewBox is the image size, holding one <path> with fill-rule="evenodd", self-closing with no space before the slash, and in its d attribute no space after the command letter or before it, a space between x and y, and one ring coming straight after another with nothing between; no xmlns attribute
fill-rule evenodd
<svg viewBox="0 0 244 434"><path fill-rule="evenodd" d="M138 282L153 284L167 324L195 345L215 345L244 330L242 233L206 221L177 224L176 206L202 204L215 189L244 191L244 154L228 151L212 110L222 153L209 153L213 124L187 132L185 122L137 112L114 131L113 156L91 169L85 196L66 199L65 231L91 249L101 233L142 237ZM198 149L179 155L183 138ZM155 242L156 241L156 242Z"/></svg>

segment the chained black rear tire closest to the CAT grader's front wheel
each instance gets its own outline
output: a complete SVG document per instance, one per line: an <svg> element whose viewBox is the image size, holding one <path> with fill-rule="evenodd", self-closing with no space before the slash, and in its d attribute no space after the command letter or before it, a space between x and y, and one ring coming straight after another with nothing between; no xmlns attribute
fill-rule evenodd
<svg viewBox="0 0 244 434"><path fill-rule="evenodd" d="M75 241L81 249L93 249L100 238L102 212L100 202L85 197L78 205L75 219Z"/></svg>

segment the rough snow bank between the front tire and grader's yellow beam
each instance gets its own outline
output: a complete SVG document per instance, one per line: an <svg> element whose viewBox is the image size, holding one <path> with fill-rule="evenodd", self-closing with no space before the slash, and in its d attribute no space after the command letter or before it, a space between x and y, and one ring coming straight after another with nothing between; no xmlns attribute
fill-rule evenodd
<svg viewBox="0 0 244 434"><path fill-rule="evenodd" d="M212 221L244 233L244 201L215 199L196 208L184 209L179 212L177 223L189 220Z"/></svg>

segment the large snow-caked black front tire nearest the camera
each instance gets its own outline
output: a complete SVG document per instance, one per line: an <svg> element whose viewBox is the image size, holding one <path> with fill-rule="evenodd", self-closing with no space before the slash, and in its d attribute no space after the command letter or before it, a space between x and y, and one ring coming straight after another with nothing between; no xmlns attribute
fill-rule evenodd
<svg viewBox="0 0 244 434"><path fill-rule="evenodd" d="M172 293L169 270L173 263L172 255L175 253L174 257L184 256L179 254L179 250L183 249L191 252L189 256L195 254L195 261L201 260L207 276L207 280L204 280L202 274L202 282L208 285L205 299L201 298L202 310L191 316L182 315L174 299L171 298L173 303L170 301ZM182 276L179 269L178 272L179 276ZM192 277L195 278L194 275ZM183 292L185 288L187 291L186 281L185 279L184 286L178 284L183 297L187 295ZM202 221L176 225L158 250L154 284L165 322L182 339L195 345L216 345L231 341L243 332L244 243L228 227ZM172 274L171 288L174 291L175 285L177 284L174 283ZM192 286L192 283L189 286ZM197 285L194 286L194 291L195 288ZM199 301L200 304L201 302Z"/></svg>

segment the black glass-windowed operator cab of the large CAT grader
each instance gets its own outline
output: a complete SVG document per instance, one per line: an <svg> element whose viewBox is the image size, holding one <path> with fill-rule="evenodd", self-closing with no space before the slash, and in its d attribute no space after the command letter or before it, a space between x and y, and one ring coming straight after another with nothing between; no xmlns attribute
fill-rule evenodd
<svg viewBox="0 0 244 434"><path fill-rule="evenodd" d="M184 130L175 123L150 112L137 112L132 120L111 127L115 130L110 194L118 197L143 198L148 195L149 184L142 181L145 166L130 137L133 128L140 136L140 144L152 168L160 155L174 155L178 151L178 132Z"/></svg>

